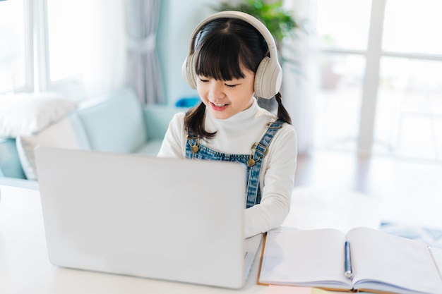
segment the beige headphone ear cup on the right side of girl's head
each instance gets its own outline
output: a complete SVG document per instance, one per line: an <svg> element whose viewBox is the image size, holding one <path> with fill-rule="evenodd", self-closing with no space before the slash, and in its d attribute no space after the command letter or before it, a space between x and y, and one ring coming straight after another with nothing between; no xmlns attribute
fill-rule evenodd
<svg viewBox="0 0 442 294"><path fill-rule="evenodd" d="M282 69L279 63L265 56L255 73L254 91L257 97L270 99L280 92Z"/></svg>

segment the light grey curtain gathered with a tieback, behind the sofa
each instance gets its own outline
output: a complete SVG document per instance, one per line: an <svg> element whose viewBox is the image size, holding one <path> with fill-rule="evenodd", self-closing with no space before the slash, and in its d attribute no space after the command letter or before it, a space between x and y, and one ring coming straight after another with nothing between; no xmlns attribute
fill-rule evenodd
<svg viewBox="0 0 442 294"><path fill-rule="evenodd" d="M127 79L143 104L162 104L162 78L156 51L160 0L128 0L126 4Z"/></svg>

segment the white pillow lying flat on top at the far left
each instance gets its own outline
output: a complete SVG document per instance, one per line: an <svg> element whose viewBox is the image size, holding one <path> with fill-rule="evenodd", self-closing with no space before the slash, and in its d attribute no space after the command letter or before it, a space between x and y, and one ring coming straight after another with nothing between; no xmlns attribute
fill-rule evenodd
<svg viewBox="0 0 442 294"><path fill-rule="evenodd" d="M0 96L0 136L35 135L64 118L77 104L55 93Z"/></svg>

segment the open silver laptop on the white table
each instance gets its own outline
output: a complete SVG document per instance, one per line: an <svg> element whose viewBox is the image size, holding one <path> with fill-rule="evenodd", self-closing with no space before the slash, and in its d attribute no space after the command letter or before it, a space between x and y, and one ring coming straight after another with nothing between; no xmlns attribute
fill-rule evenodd
<svg viewBox="0 0 442 294"><path fill-rule="evenodd" d="M244 286L261 235L244 240L243 166L50 147L35 157L52 264Z"/></svg>

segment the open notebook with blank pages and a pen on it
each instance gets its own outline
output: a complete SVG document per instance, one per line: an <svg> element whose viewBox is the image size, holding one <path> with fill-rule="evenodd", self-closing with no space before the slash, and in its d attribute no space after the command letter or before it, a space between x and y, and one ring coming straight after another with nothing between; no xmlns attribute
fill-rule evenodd
<svg viewBox="0 0 442 294"><path fill-rule="evenodd" d="M372 228L267 233L259 283L327 290L440 294L442 276L426 244Z"/></svg>

